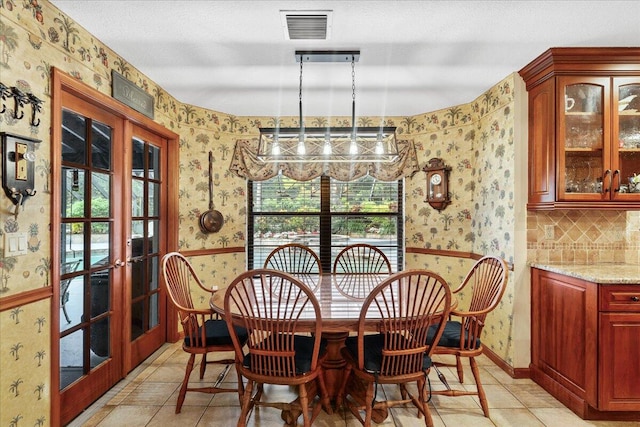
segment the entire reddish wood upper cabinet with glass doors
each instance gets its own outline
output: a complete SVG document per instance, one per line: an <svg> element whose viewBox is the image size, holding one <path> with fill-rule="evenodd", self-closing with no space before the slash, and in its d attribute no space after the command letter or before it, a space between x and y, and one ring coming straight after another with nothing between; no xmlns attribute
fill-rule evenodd
<svg viewBox="0 0 640 427"><path fill-rule="evenodd" d="M640 48L553 48L520 75L527 208L640 209Z"/></svg>

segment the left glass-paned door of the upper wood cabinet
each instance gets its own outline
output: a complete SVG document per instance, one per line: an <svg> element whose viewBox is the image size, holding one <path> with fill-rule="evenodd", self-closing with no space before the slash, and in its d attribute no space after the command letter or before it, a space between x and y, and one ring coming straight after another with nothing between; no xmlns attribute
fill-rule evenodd
<svg viewBox="0 0 640 427"><path fill-rule="evenodd" d="M559 78L560 200L610 198L609 86L608 78Z"/></svg>

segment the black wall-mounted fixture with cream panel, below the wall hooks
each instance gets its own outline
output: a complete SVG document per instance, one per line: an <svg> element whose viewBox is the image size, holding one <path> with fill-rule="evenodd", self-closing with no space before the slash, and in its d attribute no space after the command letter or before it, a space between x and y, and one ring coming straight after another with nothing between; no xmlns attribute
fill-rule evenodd
<svg viewBox="0 0 640 427"><path fill-rule="evenodd" d="M36 194L34 147L40 140L0 133L2 139L2 187L7 197L16 205L15 217L24 202Z"/></svg>

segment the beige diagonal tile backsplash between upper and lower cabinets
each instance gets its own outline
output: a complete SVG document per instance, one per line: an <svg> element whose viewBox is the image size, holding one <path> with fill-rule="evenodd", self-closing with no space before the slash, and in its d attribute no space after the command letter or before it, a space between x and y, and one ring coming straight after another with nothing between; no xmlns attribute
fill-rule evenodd
<svg viewBox="0 0 640 427"><path fill-rule="evenodd" d="M529 212L527 249L529 262L638 264L640 212Z"/></svg>

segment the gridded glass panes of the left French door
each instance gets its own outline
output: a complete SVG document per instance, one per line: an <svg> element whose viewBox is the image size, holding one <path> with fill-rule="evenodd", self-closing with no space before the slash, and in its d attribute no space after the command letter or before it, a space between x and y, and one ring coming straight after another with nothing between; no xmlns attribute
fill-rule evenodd
<svg viewBox="0 0 640 427"><path fill-rule="evenodd" d="M62 113L60 389L111 357L112 128Z"/></svg>

